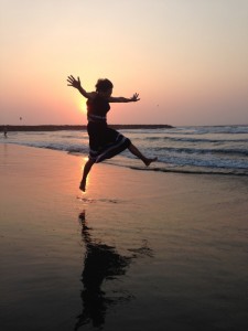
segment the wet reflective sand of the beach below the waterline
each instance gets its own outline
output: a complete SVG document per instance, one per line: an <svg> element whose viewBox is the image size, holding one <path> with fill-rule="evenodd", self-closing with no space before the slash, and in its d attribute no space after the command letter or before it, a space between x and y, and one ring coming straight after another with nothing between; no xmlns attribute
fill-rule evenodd
<svg viewBox="0 0 248 331"><path fill-rule="evenodd" d="M0 145L1 331L248 329L248 178Z"/></svg>

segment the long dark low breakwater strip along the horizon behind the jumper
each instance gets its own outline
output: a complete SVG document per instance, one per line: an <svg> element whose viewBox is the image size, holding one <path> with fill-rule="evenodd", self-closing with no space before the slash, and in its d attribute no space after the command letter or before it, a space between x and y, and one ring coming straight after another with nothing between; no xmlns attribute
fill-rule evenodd
<svg viewBox="0 0 248 331"><path fill-rule="evenodd" d="M110 128L121 130L134 130L134 129L171 129L170 125L109 125ZM87 126L69 126L69 125L41 125L41 126L0 126L0 130L3 131L62 131L62 130L86 130Z"/></svg>

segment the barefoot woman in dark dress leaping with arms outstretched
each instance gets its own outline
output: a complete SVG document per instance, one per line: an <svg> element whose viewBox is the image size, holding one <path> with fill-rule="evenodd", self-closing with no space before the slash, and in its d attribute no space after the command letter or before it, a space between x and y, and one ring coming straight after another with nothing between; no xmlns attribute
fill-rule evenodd
<svg viewBox="0 0 248 331"><path fill-rule="evenodd" d="M112 97L112 83L109 79L98 79L96 84L96 92L86 92L82 85L80 79L68 76L67 84L78 89L78 92L87 98L87 131L89 137L89 158L85 163L83 178L79 189L86 191L87 175L94 163L99 163L106 159L110 159L125 149L134 154L143 161L148 167L150 163L155 162L158 158L147 158L139 149L132 145L130 139L122 136L118 131L108 127L107 113L110 109L109 103L136 103L139 102L139 94L133 94L131 98Z"/></svg>

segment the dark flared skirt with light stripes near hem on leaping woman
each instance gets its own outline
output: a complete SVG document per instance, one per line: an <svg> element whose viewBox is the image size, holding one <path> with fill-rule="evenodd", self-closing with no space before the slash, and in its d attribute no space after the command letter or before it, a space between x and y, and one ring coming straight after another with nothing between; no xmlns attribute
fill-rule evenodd
<svg viewBox="0 0 248 331"><path fill-rule="evenodd" d="M89 159L96 163L114 158L131 143L127 137L109 128L106 122L89 121L87 131L89 137Z"/></svg>

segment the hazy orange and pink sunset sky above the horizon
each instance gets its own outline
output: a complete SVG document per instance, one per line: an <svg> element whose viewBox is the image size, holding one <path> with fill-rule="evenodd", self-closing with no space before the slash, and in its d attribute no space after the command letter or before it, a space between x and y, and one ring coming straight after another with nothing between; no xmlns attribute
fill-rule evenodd
<svg viewBox="0 0 248 331"><path fill-rule="evenodd" d="M247 0L0 0L0 125L85 125L69 74L140 94L109 124L248 124Z"/></svg>

